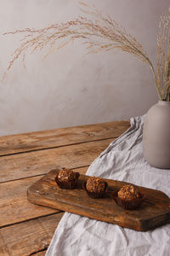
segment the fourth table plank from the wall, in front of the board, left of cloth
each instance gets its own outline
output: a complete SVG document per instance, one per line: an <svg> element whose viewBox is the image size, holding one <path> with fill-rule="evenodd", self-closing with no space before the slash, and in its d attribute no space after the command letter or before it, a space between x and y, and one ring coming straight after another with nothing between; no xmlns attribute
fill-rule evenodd
<svg viewBox="0 0 170 256"><path fill-rule="evenodd" d="M0 246L3 251L0 251L0 255L28 256L31 253L44 255L42 250L48 248L63 214L64 212L59 212L0 229L0 237L3 237L3 245ZM3 252L7 253L3 254Z"/></svg>

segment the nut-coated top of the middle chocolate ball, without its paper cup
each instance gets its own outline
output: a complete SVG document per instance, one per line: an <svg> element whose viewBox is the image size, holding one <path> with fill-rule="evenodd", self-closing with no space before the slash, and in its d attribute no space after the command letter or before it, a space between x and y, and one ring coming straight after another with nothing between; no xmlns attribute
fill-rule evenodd
<svg viewBox="0 0 170 256"><path fill-rule="evenodd" d="M100 177L88 177L86 189L88 192L104 192L105 182Z"/></svg>

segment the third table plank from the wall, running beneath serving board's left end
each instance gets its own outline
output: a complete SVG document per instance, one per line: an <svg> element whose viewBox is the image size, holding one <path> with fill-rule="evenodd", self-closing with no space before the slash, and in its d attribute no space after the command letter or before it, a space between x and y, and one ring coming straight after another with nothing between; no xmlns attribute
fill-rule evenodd
<svg viewBox="0 0 170 256"><path fill-rule="evenodd" d="M75 172L85 173L87 168L78 168ZM27 189L40 177L28 177L1 184L0 227L59 212L48 207L36 206L27 200Z"/></svg>

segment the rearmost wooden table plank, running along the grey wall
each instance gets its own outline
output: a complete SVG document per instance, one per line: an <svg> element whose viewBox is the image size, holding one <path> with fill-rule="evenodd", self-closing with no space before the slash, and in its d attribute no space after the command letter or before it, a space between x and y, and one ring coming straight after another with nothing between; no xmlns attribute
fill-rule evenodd
<svg viewBox="0 0 170 256"><path fill-rule="evenodd" d="M0 155L116 138L128 128L129 121L113 121L4 136L0 137Z"/></svg>

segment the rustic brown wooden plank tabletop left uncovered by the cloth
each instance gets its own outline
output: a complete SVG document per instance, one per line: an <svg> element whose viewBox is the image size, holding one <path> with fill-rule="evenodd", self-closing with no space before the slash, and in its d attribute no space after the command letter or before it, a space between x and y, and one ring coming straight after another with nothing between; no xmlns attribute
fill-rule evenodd
<svg viewBox="0 0 170 256"><path fill-rule="evenodd" d="M0 256L45 255L64 212L27 201L27 188L56 166L85 173L129 121L0 137Z"/></svg>

